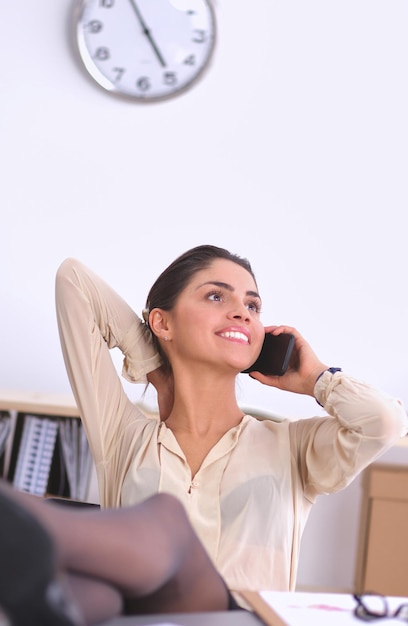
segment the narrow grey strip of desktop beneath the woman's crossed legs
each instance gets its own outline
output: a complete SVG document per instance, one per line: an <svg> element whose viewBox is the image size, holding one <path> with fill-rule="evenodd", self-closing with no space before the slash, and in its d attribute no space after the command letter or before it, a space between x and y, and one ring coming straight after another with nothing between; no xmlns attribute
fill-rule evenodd
<svg viewBox="0 0 408 626"><path fill-rule="evenodd" d="M262 626L263 622L249 611L214 611L211 613L173 613L171 615L138 615L117 617L100 626L147 626L177 624L178 626Z"/></svg>

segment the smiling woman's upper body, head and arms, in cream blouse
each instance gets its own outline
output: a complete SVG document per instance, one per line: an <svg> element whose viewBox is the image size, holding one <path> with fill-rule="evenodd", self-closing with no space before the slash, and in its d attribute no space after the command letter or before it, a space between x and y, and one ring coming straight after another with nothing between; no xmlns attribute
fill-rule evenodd
<svg viewBox="0 0 408 626"><path fill-rule="evenodd" d="M248 261L222 248L176 259L148 295L145 323L73 259L58 270L56 302L102 506L172 494L231 590L293 589L316 497L345 487L406 433L401 402L329 368L296 329L264 328ZM243 414L236 377L265 331L293 333L293 358L283 376L252 376L315 397L327 416L275 423ZM125 378L156 387L161 419L126 396L115 347Z"/></svg>

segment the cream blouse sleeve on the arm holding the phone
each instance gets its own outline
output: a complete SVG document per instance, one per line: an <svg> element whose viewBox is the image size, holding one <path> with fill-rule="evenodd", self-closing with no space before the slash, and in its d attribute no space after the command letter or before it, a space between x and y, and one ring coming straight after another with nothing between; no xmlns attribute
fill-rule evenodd
<svg viewBox="0 0 408 626"><path fill-rule="evenodd" d="M303 488L312 499L348 485L408 429L400 400L343 372L325 372L315 396L328 416L290 426Z"/></svg>

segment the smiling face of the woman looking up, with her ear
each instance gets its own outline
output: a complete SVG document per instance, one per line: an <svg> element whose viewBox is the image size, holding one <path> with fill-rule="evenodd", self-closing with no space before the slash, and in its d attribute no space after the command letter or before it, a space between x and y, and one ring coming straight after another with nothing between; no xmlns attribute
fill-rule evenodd
<svg viewBox="0 0 408 626"><path fill-rule="evenodd" d="M187 359L235 373L257 358L264 339L261 299L251 274L215 259L197 272L168 311L171 361Z"/></svg>

